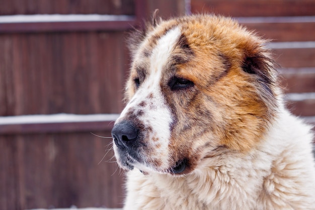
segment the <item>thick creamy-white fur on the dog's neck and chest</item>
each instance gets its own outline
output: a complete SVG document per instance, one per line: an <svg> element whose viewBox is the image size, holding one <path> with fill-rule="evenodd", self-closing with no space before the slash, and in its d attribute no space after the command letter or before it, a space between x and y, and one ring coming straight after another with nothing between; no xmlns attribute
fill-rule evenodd
<svg viewBox="0 0 315 210"><path fill-rule="evenodd" d="M224 149L218 156L209 153L198 168L185 176L130 171L125 209L187 210L188 206L195 206L194 210L310 209L306 206L315 206L309 127L299 121L295 123L297 119L285 110L279 115L281 121L273 123L259 149L247 154ZM299 143L305 136L309 142ZM303 182L299 181L301 178ZM303 199L294 200L301 195Z"/></svg>

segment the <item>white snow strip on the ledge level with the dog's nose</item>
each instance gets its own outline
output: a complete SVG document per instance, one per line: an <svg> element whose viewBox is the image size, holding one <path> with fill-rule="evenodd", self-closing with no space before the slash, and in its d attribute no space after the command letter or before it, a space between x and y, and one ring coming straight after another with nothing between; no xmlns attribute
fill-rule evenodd
<svg viewBox="0 0 315 210"><path fill-rule="evenodd" d="M101 122L115 121L119 114L41 114L41 115L19 115L0 116L0 125L8 124L37 124L37 123L63 123L63 122Z"/></svg>

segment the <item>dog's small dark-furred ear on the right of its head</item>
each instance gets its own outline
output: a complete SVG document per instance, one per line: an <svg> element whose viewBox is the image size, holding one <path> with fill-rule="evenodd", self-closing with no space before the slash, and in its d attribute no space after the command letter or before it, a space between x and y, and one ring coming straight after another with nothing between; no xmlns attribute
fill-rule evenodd
<svg viewBox="0 0 315 210"><path fill-rule="evenodd" d="M248 45L244 52L242 69L244 72L253 75L264 89L272 93L271 87L275 83L272 72L274 71L275 63L270 56L269 50L264 49L262 46L257 44Z"/></svg>

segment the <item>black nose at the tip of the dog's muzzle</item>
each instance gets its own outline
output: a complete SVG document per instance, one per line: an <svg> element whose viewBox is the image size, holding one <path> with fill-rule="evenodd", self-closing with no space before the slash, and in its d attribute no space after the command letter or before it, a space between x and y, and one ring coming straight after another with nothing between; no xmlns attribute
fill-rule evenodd
<svg viewBox="0 0 315 210"><path fill-rule="evenodd" d="M134 141L137 135L138 129L129 121L117 123L112 129L112 136L117 147L128 147L128 144Z"/></svg>

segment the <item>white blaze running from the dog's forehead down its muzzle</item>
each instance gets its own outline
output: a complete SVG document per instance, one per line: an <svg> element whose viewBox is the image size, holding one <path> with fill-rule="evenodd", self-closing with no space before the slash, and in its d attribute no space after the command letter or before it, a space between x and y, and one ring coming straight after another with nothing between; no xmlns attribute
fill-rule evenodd
<svg viewBox="0 0 315 210"><path fill-rule="evenodd" d="M164 164L161 168L165 169L170 167L168 165L170 155L168 146L171 135L170 124L172 123L172 114L162 94L160 82L162 72L167 62L170 60L172 51L180 35L181 31L176 27L168 31L157 41L150 55L150 67L147 69L148 75L146 75L143 84L140 84L139 89L117 120L127 119L128 116L126 116L126 114L129 111L134 113L137 113L136 110L142 111L143 114L141 116L136 116L137 120L143 123L144 126L148 126L152 129L150 133L145 133L149 139L144 139L144 141L154 150L153 154L150 154L150 156L153 157L153 159L161 160ZM140 106L140 103L143 101L147 104L145 107ZM155 141L153 141L153 138ZM159 147L154 147L155 145L159 145Z"/></svg>

